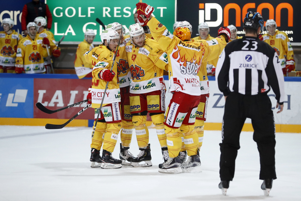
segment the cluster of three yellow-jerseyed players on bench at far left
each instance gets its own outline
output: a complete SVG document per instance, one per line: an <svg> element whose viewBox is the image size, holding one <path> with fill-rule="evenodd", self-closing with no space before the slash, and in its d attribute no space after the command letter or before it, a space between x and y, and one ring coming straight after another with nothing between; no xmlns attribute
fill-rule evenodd
<svg viewBox="0 0 301 201"><path fill-rule="evenodd" d="M5 18L0 32L0 73L50 73L51 56L59 57L60 48L54 35L46 30L44 17L36 17L26 26L28 35L24 38L12 30L14 20Z"/></svg>

